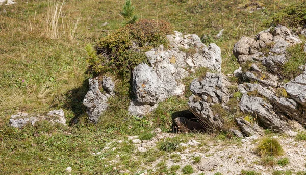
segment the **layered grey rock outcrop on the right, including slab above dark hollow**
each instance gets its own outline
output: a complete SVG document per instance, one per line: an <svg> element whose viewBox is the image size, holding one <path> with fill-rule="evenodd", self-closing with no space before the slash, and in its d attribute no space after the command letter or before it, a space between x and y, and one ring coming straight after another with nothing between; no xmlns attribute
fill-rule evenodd
<svg viewBox="0 0 306 175"><path fill-rule="evenodd" d="M241 133L261 136L264 134L263 128L291 133L290 130L294 129L290 124L292 121L305 123L305 66L299 67L305 72L287 84L278 75L289 60L287 47L298 43L301 43L298 36L285 26L262 31L255 39L242 37L233 49L241 64L234 71L240 83L236 92L240 94L239 97L229 93L225 76L208 73L205 78L194 79L190 85L193 93L188 102L190 110L207 126L232 131L237 136L241 136ZM234 119L241 133L235 128L226 128L225 120L229 116L218 115L222 110L230 115L231 107L226 106L227 102L238 103L239 111L235 113L238 116L234 116ZM214 111L216 109L219 112Z"/></svg>

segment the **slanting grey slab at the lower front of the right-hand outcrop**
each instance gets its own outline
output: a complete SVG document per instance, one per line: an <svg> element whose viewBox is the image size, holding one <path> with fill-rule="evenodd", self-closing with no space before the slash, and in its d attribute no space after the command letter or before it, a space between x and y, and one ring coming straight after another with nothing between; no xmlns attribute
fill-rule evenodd
<svg viewBox="0 0 306 175"><path fill-rule="evenodd" d="M264 128L276 131L287 131L290 129L287 122L275 114L273 106L265 102L261 97L244 95L239 102L239 107L242 112L250 113L256 117Z"/></svg>

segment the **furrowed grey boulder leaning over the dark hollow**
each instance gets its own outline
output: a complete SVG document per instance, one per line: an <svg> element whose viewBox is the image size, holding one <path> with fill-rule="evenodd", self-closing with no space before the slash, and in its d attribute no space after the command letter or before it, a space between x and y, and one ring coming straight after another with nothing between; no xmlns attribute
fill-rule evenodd
<svg viewBox="0 0 306 175"><path fill-rule="evenodd" d="M196 78L191 82L190 90L193 93L189 97L190 110L199 120L216 130L224 130L224 118L214 112L212 106L220 104L224 106L230 99L227 87L230 82L220 73L207 73L203 78Z"/></svg>

